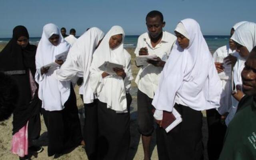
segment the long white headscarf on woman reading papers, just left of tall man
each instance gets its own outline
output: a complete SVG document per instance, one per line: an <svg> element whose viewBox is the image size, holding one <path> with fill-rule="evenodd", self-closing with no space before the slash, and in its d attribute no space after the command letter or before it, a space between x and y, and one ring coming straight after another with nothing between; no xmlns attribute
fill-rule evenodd
<svg viewBox="0 0 256 160"><path fill-rule="evenodd" d="M111 36L117 34L122 34L122 43L117 48L111 49L109 47L109 40ZM124 37L125 34L123 28L120 26L113 26L94 52L90 68L90 84L92 90L94 93L98 94L100 101L107 103L108 108L116 110L117 112L125 112L127 110L124 80L117 75L108 76L102 79L101 74L103 71L98 67L105 61L121 64L122 66L128 65L125 62ZM104 91L102 88L105 88Z"/></svg>

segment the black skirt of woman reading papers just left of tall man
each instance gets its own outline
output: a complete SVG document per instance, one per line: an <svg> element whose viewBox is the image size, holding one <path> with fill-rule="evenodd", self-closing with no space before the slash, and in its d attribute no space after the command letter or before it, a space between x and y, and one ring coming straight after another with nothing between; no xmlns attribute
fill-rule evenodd
<svg viewBox="0 0 256 160"><path fill-rule="evenodd" d="M126 160L130 147L131 96L126 97L127 113L116 113L106 103L98 102L97 160Z"/></svg>

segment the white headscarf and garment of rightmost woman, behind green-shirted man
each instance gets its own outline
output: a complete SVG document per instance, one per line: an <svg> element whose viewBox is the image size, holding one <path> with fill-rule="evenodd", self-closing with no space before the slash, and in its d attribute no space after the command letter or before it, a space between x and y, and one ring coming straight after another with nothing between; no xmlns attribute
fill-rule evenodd
<svg viewBox="0 0 256 160"><path fill-rule="evenodd" d="M252 51L252 48L256 46L256 24L252 22L245 22L238 26L238 28L235 30L233 36L231 37L232 40L237 42L238 44L245 46L249 52ZM244 62L246 62L245 58L242 58L241 56L238 56L236 64L234 66L234 87L232 90L236 91L236 86L242 87L242 77L241 73L244 69ZM233 119L237 106L239 102L232 96L232 107L229 110L229 114L225 120L226 125L229 124L229 122Z"/></svg>

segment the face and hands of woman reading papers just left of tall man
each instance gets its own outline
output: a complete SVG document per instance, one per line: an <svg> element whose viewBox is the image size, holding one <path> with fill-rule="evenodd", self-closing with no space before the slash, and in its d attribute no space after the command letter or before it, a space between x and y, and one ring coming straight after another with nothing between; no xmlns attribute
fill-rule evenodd
<svg viewBox="0 0 256 160"><path fill-rule="evenodd" d="M108 44L111 49L115 49L122 43L122 41L123 41L123 35L116 34L116 35L110 37ZM123 68L113 68L113 70L114 70L114 72L116 72L116 75L122 77L123 79L126 77L126 73L124 72ZM109 74L106 72L103 72L102 78L105 78L106 76L109 76Z"/></svg>

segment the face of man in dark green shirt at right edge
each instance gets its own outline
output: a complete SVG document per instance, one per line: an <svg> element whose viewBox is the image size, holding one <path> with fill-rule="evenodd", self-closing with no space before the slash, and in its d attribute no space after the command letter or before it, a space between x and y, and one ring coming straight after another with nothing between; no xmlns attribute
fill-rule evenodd
<svg viewBox="0 0 256 160"><path fill-rule="evenodd" d="M256 52L252 51L242 70L243 92L256 100Z"/></svg>

